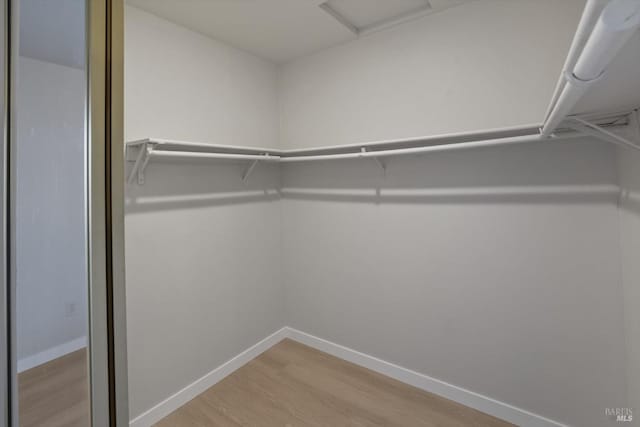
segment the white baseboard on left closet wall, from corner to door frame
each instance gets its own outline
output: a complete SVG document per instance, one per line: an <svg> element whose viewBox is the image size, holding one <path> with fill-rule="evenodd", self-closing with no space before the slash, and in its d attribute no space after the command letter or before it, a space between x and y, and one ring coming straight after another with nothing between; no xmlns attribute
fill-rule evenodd
<svg viewBox="0 0 640 427"><path fill-rule="evenodd" d="M131 421L130 426L149 427L157 423L185 403L189 402L194 397L206 391L209 387L220 382L226 376L232 374L234 371L246 365L248 362L255 359L260 354L264 353L285 338L287 338L287 328L282 328L279 331L274 332L259 343L249 347L236 357L218 366L213 371L206 374L204 377L194 381L179 392L163 400L148 411L142 413L140 416Z"/></svg>

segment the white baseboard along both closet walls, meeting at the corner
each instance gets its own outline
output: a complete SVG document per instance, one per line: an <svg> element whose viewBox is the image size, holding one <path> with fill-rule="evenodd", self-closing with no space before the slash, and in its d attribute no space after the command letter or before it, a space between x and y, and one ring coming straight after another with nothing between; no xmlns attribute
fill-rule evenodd
<svg viewBox="0 0 640 427"><path fill-rule="evenodd" d="M484 412L502 420L523 427L567 427L564 424L525 411L499 400L483 396L470 390L431 378L427 375L403 368L393 363L386 362L368 354L360 353L348 347L335 344L331 341L315 337L298 331L297 329L284 327L274 334L263 339L256 345L243 351L233 359L220 365L204 377L186 386L173 396L160 402L153 408L144 412L131 421L130 427L149 427L176 409L184 405L194 397L203 393L209 387L215 385L226 376L244 366L252 359L267 351L285 338L290 338L301 344L328 353L332 356L371 369L372 371L394 378L403 383L412 385L430 393L453 400L462 405Z"/></svg>

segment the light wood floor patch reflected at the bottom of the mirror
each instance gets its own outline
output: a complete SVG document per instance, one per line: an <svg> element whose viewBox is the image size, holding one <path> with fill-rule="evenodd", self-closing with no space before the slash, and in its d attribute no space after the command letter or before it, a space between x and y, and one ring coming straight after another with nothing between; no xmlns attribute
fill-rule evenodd
<svg viewBox="0 0 640 427"><path fill-rule="evenodd" d="M18 375L21 427L90 425L86 357L78 350Z"/></svg>

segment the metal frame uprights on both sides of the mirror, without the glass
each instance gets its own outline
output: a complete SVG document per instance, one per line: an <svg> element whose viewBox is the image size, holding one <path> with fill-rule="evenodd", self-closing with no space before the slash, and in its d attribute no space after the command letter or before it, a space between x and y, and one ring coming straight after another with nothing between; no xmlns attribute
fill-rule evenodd
<svg viewBox="0 0 640 427"><path fill-rule="evenodd" d="M19 0L4 0L0 43L0 425L18 427L15 352L15 90ZM124 274L123 0L85 0L86 215L91 425L129 425ZM1 349L6 349L3 351Z"/></svg>

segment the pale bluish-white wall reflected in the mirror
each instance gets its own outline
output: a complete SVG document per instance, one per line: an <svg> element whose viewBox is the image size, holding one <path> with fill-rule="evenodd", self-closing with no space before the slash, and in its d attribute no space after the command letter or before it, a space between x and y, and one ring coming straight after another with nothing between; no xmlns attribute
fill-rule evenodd
<svg viewBox="0 0 640 427"><path fill-rule="evenodd" d="M19 360L86 336L85 82L83 70L19 59Z"/></svg>

